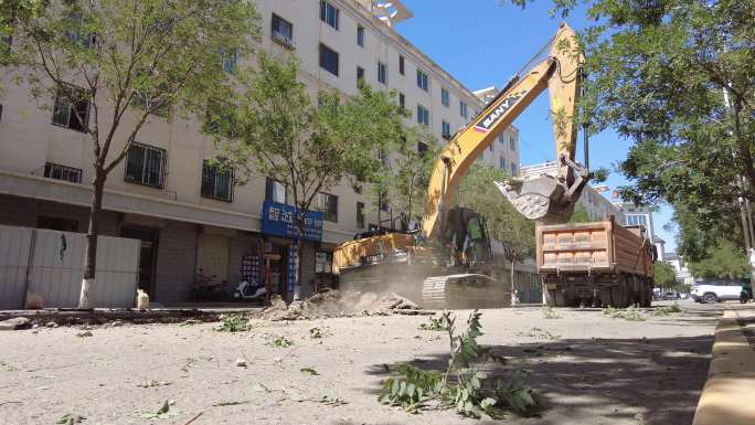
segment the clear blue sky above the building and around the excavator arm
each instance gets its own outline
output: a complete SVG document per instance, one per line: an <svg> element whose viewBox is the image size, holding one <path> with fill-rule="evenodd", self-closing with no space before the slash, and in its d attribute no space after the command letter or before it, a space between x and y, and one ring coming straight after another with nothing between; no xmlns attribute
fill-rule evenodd
<svg viewBox="0 0 755 425"><path fill-rule="evenodd" d="M551 18L551 1L536 0L525 9L508 0L403 0L414 18L397 23L395 30L437 62L468 88L502 87L551 39L561 17ZM587 24L584 9L566 21L579 30ZM547 95L543 94L514 125L520 129L521 163L553 159L553 132L549 121ZM579 136L582 140L582 136ZM606 167L625 158L630 142L613 131L591 138L591 168ZM582 160L582 141L577 158ZM628 184L613 172L606 182L612 189ZM608 196L610 193L607 194ZM656 233L674 248L674 235L663 229L671 211L661 206L655 215Z"/></svg>

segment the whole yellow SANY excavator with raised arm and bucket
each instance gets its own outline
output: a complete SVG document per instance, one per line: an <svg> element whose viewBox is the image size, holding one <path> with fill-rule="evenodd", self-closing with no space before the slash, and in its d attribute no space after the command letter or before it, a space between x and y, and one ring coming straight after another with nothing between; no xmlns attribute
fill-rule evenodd
<svg viewBox="0 0 755 425"><path fill-rule="evenodd" d="M550 50L549 50L550 49ZM541 61L540 54L549 52ZM425 308L486 308L508 304L492 275L485 219L451 205L469 167L545 88L551 94L557 173L496 183L530 220L565 223L589 179L575 162L576 113L582 65L574 30L565 23L541 53L460 129L436 161L421 229L359 234L333 252L342 290L393 291Z"/></svg>

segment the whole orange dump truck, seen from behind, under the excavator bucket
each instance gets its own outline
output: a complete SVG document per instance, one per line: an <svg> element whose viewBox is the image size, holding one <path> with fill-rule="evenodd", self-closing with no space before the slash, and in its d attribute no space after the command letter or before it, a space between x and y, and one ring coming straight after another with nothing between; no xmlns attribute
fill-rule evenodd
<svg viewBox="0 0 755 425"><path fill-rule="evenodd" d="M656 247L645 226L538 225L538 273L553 307L650 307Z"/></svg>

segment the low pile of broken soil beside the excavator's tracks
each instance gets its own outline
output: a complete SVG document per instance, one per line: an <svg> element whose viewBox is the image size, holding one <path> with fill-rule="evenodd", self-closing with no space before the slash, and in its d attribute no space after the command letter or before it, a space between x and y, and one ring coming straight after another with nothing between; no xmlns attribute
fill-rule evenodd
<svg viewBox="0 0 755 425"><path fill-rule="evenodd" d="M326 290L290 305L280 297L270 299L262 311L268 320L299 320L345 316L387 316L394 310L418 310L419 306L400 295Z"/></svg>

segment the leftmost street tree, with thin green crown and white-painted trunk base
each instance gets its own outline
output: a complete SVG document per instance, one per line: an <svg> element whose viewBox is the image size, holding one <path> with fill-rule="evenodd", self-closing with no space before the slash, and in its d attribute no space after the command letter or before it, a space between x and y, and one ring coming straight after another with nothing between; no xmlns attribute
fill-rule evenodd
<svg viewBox="0 0 755 425"><path fill-rule="evenodd" d="M92 141L94 192L79 297L79 307L91 308L108 173L152 119L203 115L209 98L227 96L223 57L249 50L257 13L245 0L44 4L15 17L10 61L32 96L55 99L56 110L71 115Z"/></svg>

